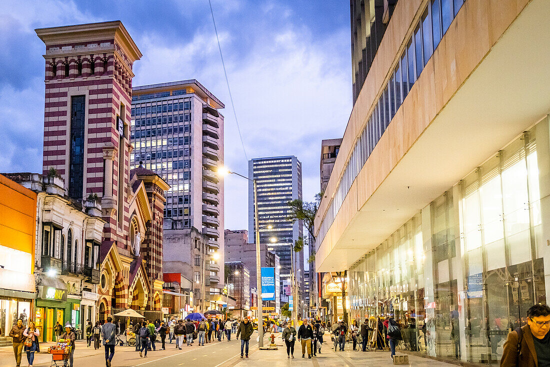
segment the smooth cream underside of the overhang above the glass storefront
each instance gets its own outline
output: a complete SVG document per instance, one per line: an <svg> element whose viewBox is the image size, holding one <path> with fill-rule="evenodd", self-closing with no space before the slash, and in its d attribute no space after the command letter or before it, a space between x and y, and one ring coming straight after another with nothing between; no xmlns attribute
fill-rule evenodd
<svg viewBox="0 0 550 367"><path fill-rule="evenodd" d="M357 210L351 214L340 210L337 214L334 223L340 221L344 229L339 236L329 229L318 246L317 272L348 269L483 161L549 114L549 17L549 1L533 0L527 4L372 195L363 200L357 192L367 182L360 180L361 176L368 177L362 175L367 161L344 201L344 204L351 201L351 207L356 206ZM429 65L428 62L426 68ZM450 68L459 66L451 64ZM421 75L413 89L427 82ZM394 120L403 113L401 106ZM407 117L404 116L405 123ZM392 133L392 123L384 136ZM379 143L369 159L375 153L391 155L391 150L392 147Z"/></svg>

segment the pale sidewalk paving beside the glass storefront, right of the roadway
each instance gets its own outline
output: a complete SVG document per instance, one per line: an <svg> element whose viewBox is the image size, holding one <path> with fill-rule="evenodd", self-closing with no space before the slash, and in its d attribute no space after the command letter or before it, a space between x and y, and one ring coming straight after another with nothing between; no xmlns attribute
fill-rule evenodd
<svg viewBox="0 0 550 367"><path fill-rule="evenodd" d="M279 339L280 341L280 339ZM294 359L287 358L287 348L278 347L278 350L253 350L249 354L248 359L234 358L223 364L224 367L244 367L244 366L322 366L322 367L359 367L359 366L372 366L372 367L387 367L393 365L393 361L390 359L390 353L385 351L376 352L355 352L353 349L345 350L344 352L334 352L328 344L325 344L326 348L322 348L322 354L317 354L317 357L311 359L307 358L307 352L305 358L301 358L301 346L296 341L294 348ZM417 367L434 367L434 366L453 366L439 361L434 361L428 358L415 357L409 355L409 365ZM222 367L222 366L219 366Z"/></svg>

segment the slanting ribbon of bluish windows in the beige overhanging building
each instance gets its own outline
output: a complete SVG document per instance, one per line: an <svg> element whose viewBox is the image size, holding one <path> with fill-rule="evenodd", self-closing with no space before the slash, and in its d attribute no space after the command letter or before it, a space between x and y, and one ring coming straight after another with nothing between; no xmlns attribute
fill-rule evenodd
<svg viewBox="0 0 550 367"><path fill-rule="evenodd" d="M383 88L383 93L378 99L372 115L368 118L367 126L357 139L342 180L340 180L317 235L320 242L323 241L324 235L332 225L355 177L386 131L389 122L392 121L463 4L464 0L431 0L422 13L413 34L406 42L403 54L393 68L386 87Z"/></svg>

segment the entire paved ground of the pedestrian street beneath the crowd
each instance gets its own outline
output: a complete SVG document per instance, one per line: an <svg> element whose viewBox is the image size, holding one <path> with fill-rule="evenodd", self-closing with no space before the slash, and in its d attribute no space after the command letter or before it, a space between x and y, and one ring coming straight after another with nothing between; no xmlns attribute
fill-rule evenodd
<svg viewBox="0 0 550 367"><path fill-rule="evenodd" d="M234 336L234 335L233 335ZM133 347L117 347L113 359L113 366L130 367L130 366L163 366L177 367L183 365L192 366L208 366L208 367L226 367L226 366L323 366L323 367L342 367L342 366L369 366L382 367L391 364L389 352L354 352L346 350L345 352L335 353L327 345L323 348L323 353L318 354L316 358L305 359L301 358L301 349L296 343L294 359L287 359L286 349L279 347L278 350L258 350L256 337L250 343L249 359L240 359L240 342L232 339L232 341L222 341L206 344L204 347L193 346L184 347L182 350L175 350L175 344L167 344L166 350L157 350L149 352L147 358L140 358L139 354L134 351ZM281 341L280 334L277 335L276 341ZM196 343L195 343L196 344ZM44 344L41 344L44 346ZM265 342L267 345L267 339ZM46 350L43 347L42 350ZM437 361L426 358L409 356L410 365L412 366L450 366ZM50 366L51 355L47 353L39 353L35 356L34 366ZM0 348L0 367L13 367L15 365L13 358L13 349L11 347ZM26 357L23 355L21 365L26 366ZM94 350L86 348L84 341L76 342L75 350L75 366L103 366L105 365L105 356L103 349Z"/></svg>

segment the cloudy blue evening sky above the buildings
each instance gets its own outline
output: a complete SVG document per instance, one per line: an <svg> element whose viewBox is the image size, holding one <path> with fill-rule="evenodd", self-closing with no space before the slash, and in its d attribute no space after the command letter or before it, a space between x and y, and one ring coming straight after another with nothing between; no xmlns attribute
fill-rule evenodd
<svg viewBox="0 0 550 367"><path fill-rule="evenodd" d="M143 57L133 85L197 79L226 108L225 162L295 155L304 201L320 191L321 140L342 137L352 107L349 2L0 0L0 172L41 172L45 46L34 29L121 20ZM246 151L246 153L244 152ZM248 182L225 179L225 227L248 228Z"/></svg>

